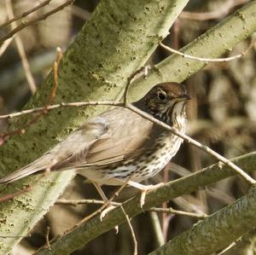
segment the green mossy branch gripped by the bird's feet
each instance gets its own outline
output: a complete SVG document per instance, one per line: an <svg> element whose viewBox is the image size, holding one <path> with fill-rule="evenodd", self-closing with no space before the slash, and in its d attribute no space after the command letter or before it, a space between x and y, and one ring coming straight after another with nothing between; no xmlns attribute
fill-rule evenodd
<svg viewBox="0 0 256 255"><path fill-rule="evenodd" d="M250 172L255 170L254 165L256 164L256 153L246 154L239 158L232 160L236 165L239 165L245 171ZM180 195L189 194L205 187L208 184L215 183L225 177L231 177L235 175L234 171L230 171L228 166L223 165L220 167L218 164L209 166L202 171L198 171L195 174L191 174L188 177L182 177L176 181L166 183L160 188L149 192L146 196L145 205L143 206L143 211L147 211L153 206L158 206L165 201L172 200ZM256 191L253 191L254 193ZM126 201L123 204L125 212L129 217L135 217L137 214L142 213L140 207L140 194L137 197ZM254 197L254 204L256 206L256 196ZM241 205L241 204L240 204ZM253 207L254 208L254 207ZM254 210L251 208L252 210ZM250 209L250 208L247 208ZM250 210L251 210L250 209ZM233 210L233 209L232 209ZM225 212L226 213L226 212ZM241 211L240 217L243 211ZM251 212L247 212L251 213ZM254 217L256 221L256 213L253 212L250 214L251 217ZM239 222L239 221L238 221ZM236 224L238 224L236 222ZM44 249L41 252L38 252L38 255L66 255L75 251L81 246L84 246L89 241L95 239L97 236L102 235L103 233L113 229L116 225L125 223L125 216L119 207L115 208L113 211L108 212L107 216L104 217L101 222L100 217L91 219L89 222L86 222L79 226L77 229L72 229L66 235L62 235L57 241L51 244L51 251ZM250 228L253 228L252 224ZM217 228L218 229L218 228ZM241 229L240 229L241 230ZM249 228L244 229L248 231ZM220 231L221 232L221 231ZM225 234L225 232L224 232ZM242 235L243 233L237 230L236 235ZM219 234L218 234L219 235ZM234 234L235 235L235 234ZM226 245L230 244L230 239L227 240ZM182 245L182 244L181 244ZM171 253L169 253L171 254ZM180 254L178 252L173 252L172 254ZM185 254L185 253L183 253ZM189 252L186 254L190 254ZM192 254L192 253L191 253ZM196 253L195 253L196 254ZM207 253L209 254L209 253Z"/></svg>

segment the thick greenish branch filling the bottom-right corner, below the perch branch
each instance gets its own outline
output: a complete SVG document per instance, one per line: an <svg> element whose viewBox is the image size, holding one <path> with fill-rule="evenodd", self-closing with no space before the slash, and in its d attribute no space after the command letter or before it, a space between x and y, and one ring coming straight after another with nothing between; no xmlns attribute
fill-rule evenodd
<svg viewBox="0 0 256 255"><path fill-rule="evenodd" d="M228 246L256 224L256 186L230 206L195 223L191 229L156 249L150 255L208 255Z"/></svg>

